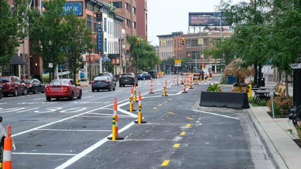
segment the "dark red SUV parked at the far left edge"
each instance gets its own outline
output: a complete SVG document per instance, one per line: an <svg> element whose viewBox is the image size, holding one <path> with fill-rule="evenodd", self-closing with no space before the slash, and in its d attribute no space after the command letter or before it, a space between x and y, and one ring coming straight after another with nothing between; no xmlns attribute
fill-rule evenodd
<svg viewBox="0 0 301 169"><path fill-rule="evenodd" d="M23 95L28 94L26 84L17 76L1 76L0 88L2 89L4 96L8 96L9 94L18 96L19 93L22 93Z"/></svg>

